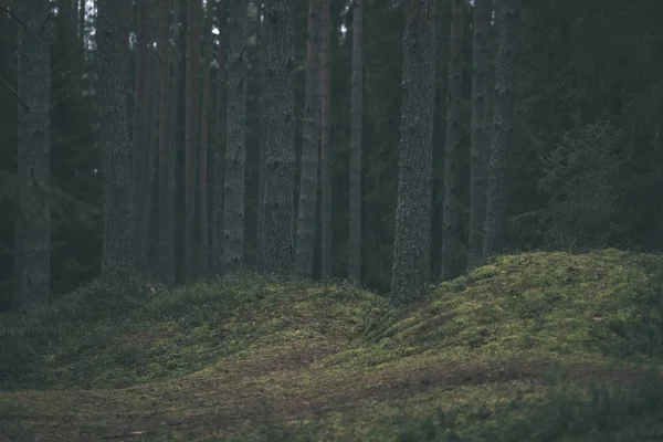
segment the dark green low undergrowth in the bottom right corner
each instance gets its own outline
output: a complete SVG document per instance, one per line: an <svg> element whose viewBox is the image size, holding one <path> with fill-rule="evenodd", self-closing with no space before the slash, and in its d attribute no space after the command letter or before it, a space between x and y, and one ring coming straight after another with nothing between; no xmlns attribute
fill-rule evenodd
<svg viewBox="0 0 663 442"><path fill-rule="evenodd" d="M591 383L582 396L561 387L543 401L514 400L504 409L507 419L498 423L471 424L439 409L434 415L400 422L397 441L602 442L663 438L663 381L656 371L635 386ZM379 439L368 435L365 440Z"/></svg>

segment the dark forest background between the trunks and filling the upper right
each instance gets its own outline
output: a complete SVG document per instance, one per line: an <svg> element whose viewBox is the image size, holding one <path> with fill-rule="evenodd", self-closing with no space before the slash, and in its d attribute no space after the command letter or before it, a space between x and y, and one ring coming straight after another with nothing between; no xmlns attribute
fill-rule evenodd
<svg viewBox="0 0 663 442"><path fill-rule="evenodd" d="M4 2L10 3L10 2ZM143 3L143 2L141 2ZM372 0L364 4L364 112L362 112L362 284L377 292L389 290L399 165L402 76L402 2ZM127 112L135 107L136 20L138 4L131 6L126 88ZM156 39L160 7L148 9L147 39ZM10 8L7 6L6 8ZM222 14L204 8L209 28L200 45L222 42ZM260 209L262 130L261 6L249 14L246 75L246 193L245 265L256 269ZM438 63L433 136L431 272L440 280L444 151L451 4L436 1ZM186 8L181 27L187 35ZM352 8L349 1L330 2L330 107L329 154L332 189L332 272L345 278L349 236L350 82L352 54ZM20 211L21 186L17 180L17 20L0 13L0 304L9 309L14 276L14 224ZM66 13L61 13L65 11ZM151 11L151 12L149 12ZM299 186L299 156L306 74L306 29L308 3L297 0L295 151ZM96 9L92 2L60 0L53 8L55 34L51 46L51 293L59 296L96 277L102 264L102 152L95 90ZM516 130L507 155L507 250L586 251L614 246L639 251L663 251L663 3L655 0L541 0L519 10L516 65ZM463 245L469 234L470 141L472 108L473 4L464 3L465 30L460 59L462 71L462 164L460 214ZM127 18L129 20L129 18ZM495 24L493 22L493 24ZM207 32L204 32L207 29ZM213 31L212 31L213 30ZM152 32L154 31L154 32ZM496 52L496 27L492 48ZM158 102L157 46L148 46L149 112ZM199 99L210 97L209 109L217 115L218 64L215 55L202 57L196 73L209 90L197 90ZM494 59L493 59L494 60ZM183 61L178 66L183 73ZM177 151L177 282L183 283L182 234L185 161L185 75L171 126ZM150 117L146 119L151 122ZM129 134L135 133L129 117ZM209 118L210 149L223 148L224 131ZM150 128L151 127L151 128ZM154 125L146 127L149 143L156 143ZM151 133L150 133L151 130ZM156 155L156 150L149 150ZM209 156L209 189L213 190L213 155ZM154 161L154 165L157 165ZM147 272L156 276L158 168L149 170L151 185L147 204L151 212ZM198 185L199 186L199 185ZM200 194L197 191L197 194ZM208 194L213 207L213 191ZM298 198L295 198L295 210ZM319 204L318 204L319 206ZM296 212L295 212L296 213ZM197 214L198 217L198 214ZM211 217L211 214L209 214ZM198 219L196 223L198 224ZM318 221L317 241L320 241ZM200 235L197 238L200 246ZM199 252L200 253L200 252ZM202 252L204 253L204 252ZM459 250L464 255L466 250ZM320 248L316 245L314 275L320 276ZM199 276L208 276L201 274Z"/></svg>

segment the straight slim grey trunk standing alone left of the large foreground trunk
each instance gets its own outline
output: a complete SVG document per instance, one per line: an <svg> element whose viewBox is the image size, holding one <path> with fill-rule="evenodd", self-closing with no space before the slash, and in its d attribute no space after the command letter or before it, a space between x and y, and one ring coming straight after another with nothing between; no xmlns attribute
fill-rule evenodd
<svg viewBox="0 0 663 442"><path fill-rule="evenodd" d="M348 280L361 283L361 125L364 113L364 1L354 0L350 98L350 236Z"/></svg>

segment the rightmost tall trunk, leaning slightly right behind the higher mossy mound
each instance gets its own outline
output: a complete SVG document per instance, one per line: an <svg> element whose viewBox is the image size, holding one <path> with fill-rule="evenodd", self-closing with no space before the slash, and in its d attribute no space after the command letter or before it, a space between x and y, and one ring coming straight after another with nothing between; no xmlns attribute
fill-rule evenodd
<svg viewBox="0 0 663 442"><path fill-rule="evenodd" d="M504 252L506 246L506 155L515 141L516 51L518 9L515 0L502 0L495 61L495 96L491 161L484 223L484 256Z"/></svg>

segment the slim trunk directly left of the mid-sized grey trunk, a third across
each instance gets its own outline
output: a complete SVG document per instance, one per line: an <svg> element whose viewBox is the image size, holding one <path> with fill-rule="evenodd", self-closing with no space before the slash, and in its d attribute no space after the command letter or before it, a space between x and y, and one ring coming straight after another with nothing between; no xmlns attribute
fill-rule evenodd
<svg viewBox="0 0 663 442"><path fill-rule="evenodd" d="M214 198L212 213L212 270L223 272L223 188L225 185L225 53L228 44L227 0L219 0L219 48L217 49L217 146L214 148Z"/></svg>

